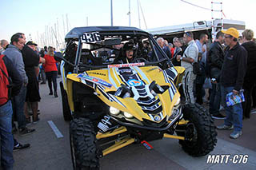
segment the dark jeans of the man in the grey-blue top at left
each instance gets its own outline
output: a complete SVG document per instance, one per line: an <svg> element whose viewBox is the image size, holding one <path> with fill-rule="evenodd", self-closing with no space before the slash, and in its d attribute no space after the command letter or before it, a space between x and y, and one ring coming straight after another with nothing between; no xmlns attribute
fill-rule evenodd
<svg viewBox="0 0 256 170"><path fill-rule="evenodd" d="M26 117L24 114L24 104L26 101L26 86L22 85L21 91L14 97L14 113L18 121L18 128L26 128Z"/></svg>

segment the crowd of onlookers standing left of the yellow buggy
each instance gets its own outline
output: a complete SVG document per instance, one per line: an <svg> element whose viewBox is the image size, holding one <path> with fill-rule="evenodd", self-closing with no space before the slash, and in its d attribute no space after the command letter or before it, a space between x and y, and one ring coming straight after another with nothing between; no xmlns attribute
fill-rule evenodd
<svg viewBox="0 0 256 170"><path fill-rule="evenodd" d="M38 45L32 41L26 42L26 36L22 33L14 34L10 38L10 44L6 40L1 40L0 54L1 167L12 169L13 151L30 147L30 144L20 144L15 140L14 133L18 132L19 136L30 135L35 129L27 126L37 124L40 120L39 78L42 80L41 84L46 84L47 79L49 94L58 97L56 81L58 69L57 61L54 60L54 48L49 46L39 51Z"/></svg>

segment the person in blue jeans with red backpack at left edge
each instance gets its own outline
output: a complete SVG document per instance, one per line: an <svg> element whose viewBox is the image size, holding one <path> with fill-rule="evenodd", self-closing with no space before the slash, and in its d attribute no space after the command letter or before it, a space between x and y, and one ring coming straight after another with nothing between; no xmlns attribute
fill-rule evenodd
<svg viewBox="0 0 256 170"><path fill-rule="evenodd" d="M6 56L0 56L0 62L4 63L1 66L0 71L2 72L1 81L2 85L6 85L4 77L8 78L10 85L10 78L12 81L12 95L17 95L22 87L22 78L18 73L18 70L12 64L12 61ZM8 85L8 84L7 84ZM2 86L3 87L3 86ZM7 86L8 87L8 86ZM10 87L10 86L9 86ZM4 89L1 89L4 90ZM13 169L14 157L14 137L12 134L12 116L13 109L10 101L10 90L8 90L8 96L1 96L0 105L0 138L1 138L1 168Z"/></svg>

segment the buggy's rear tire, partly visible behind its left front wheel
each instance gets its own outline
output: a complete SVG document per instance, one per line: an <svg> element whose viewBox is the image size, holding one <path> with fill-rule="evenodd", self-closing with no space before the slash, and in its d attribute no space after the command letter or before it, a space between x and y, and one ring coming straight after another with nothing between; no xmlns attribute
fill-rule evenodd
<svg viewBox="0 0 256 170"><path fill-rule="evenodd" d="M69 102L67 101L67 94L66 91L63 87L63 83L62 81L59 82L59 86L61 89L61 93L62 93L62 113L63 113L63 118L65 121L71 121L72 120L72 116L70 113L70 105Z"/></svg>

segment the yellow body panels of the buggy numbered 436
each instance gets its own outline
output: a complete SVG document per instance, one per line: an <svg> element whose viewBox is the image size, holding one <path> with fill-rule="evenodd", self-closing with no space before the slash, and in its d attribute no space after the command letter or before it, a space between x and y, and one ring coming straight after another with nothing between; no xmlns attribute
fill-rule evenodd
<svg viewBox="0 0 256 170"><path fill-rule="evenodd" d="M163 75L162 69L160 69L158 66L144 66L144 67L136 67L133 68L136 73L138 73L139 77L144 81L147 85L149 85L152 81L155 81L158 85L168 85L171 86L171 84L166 83L165 77ZM185 69L182 67L178 67L178 72L182 72ZM122 82L121 78L118 76L118 71L116 68L111 69L98 69L98 70L90 70L86 71L86 73L90 77L97 77L99 79L102 79L103 81L106 81L110 83L112 86L111 88L105 87L104 92L115 92L118 87L121 87L121 84L125 84ZM72 94L72 81L81 82L80 78L77 77L78 74L72 73L68 74L66 78L66 89L68 93L68 101L70 105L71 111L74 111L74 102L73 102L73 94ZM178 98L180 97L180 94L178 93L178 89L173 85L173 89L176 90L177 93L174 94L174 97L172 101L170 100L170 93L167 89L165 93L158 94L158 97L160 101L162 102L162 116L163 117L170 117L172 109L178 101ZM144 113L140 106L138 106L137 102L132 97L116 97L118 101L122 103L122 105L118 104L115 101L110 101L108 98L106 98L102 92L97 88L96 93L98 94L98 97L106 103L106 105L112 106L116 109L121 110L122 112L127 112L132 114L135 118L137 118L139 121L142 121L142 119L151 120L148 114ZM114 95L113 95L114 96ZM162 121L162 120L161 120Z"/></svg>

